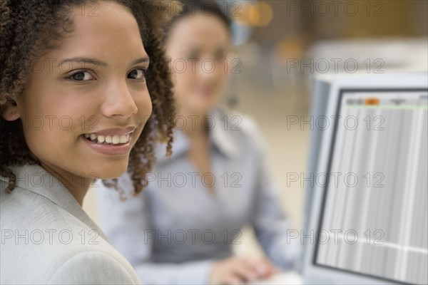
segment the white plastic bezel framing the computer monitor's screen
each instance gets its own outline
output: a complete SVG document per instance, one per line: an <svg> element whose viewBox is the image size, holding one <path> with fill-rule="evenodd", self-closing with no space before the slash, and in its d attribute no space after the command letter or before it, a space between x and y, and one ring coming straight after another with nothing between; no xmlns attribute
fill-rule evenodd
<svg viewBox="0 0 428 285"><path fill-rule="evenodd" d="M416 90L428 89L428 74L394 74L394 75L346 75L336 76L330 82L330 93L327 103L327 118L336 115L338 104L340 104L340 94L342 90ZM334 135L334 128L323 130L322 142L320 146L320 157L317 164L317 173L327 172L330 161L331 143ZM310 211L309 227L310 234L319 229L320 211L322 210L322 199L325 189L320 185L315 185L312 197L312 209ZM333 269L328 266L315 264L316 240L313 244L305 240L305 257L303 261L304 284L394 284L394 281L382 279L375 276L353 273L342 269ZM403 284L403 283L396 283Z"/></svg>

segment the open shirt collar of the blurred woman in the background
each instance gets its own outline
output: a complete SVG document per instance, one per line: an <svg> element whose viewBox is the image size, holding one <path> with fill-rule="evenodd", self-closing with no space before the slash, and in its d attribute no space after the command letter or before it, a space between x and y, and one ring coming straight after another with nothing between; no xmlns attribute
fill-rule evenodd
<svg viewBox="0 0 428 285"><path fill-rule="evenodd" d="M210 110L210 113L208 113L208 118L207 120L212 120L211 123L213 125L213 128L209 131L208 140L210 143L219 150L220 153L225 155L225 157L233 158L237 156L239 154L239 149L233 137L233 130L230 130L233 123L230 122L228 115L219 108L213 108ZM170 159L185 155L190 148L188 137L183 130L175 128L173 137L173 154ZM156 147L156 158L158 163L168 161L168 158L165 157L165 150L165 143L159 144Z"/></svg>

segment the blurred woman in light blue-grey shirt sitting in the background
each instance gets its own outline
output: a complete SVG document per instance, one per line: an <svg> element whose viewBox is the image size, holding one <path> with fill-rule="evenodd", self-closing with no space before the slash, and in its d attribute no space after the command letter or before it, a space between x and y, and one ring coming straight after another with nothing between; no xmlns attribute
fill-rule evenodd
<svg viewBox="0 0 428 285"><path fill-rule="evenodd" d="M147 284L239 284L293 266L290 224L253 120L218 106L230 69L230 19L214 1L182 1L165 38L175 83L173 155L137 199L100 191L101 224ZM121 177L124 190L129 177ZM129 185L131 187L131 185ZM245 224L268 259L235 257ZM271 261L275 263L274 266Z"/></svg>

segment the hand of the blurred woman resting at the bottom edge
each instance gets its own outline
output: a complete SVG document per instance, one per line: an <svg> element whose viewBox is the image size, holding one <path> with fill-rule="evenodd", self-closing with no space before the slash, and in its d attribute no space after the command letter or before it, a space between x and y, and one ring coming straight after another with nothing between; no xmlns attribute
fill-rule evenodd
<svg viewBox="0 0 428 285"><path fill-rule="evenodd" d="M235 285L265 279L277 269L265 258L230 257L217 261L210 274L210 284Z"/></svg>

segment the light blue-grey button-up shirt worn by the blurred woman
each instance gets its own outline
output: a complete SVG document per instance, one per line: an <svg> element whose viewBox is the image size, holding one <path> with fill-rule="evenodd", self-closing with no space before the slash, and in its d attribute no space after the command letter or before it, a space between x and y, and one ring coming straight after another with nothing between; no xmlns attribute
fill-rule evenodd
<svg viewBox="0 0 428 285"><path fill-rule="evenodd" d="M191 123L190 118L178 120L178 128L183 121ZM215 108L205 123L210 125L210 173L195 169L188 158L188 138L178 129L169 159L165 145L159 145L156 167L141 196L119 202L116 191L98 183L101 228L143 283L207 284L213 262L233 254L232 245L241 242L240 229L246 224L282 269L297 259L300 244L287 240L290 223L253 120ZM132 190L128 175L119 181L127 192ZM210 195L209 184L215 195Z"/></svg>

